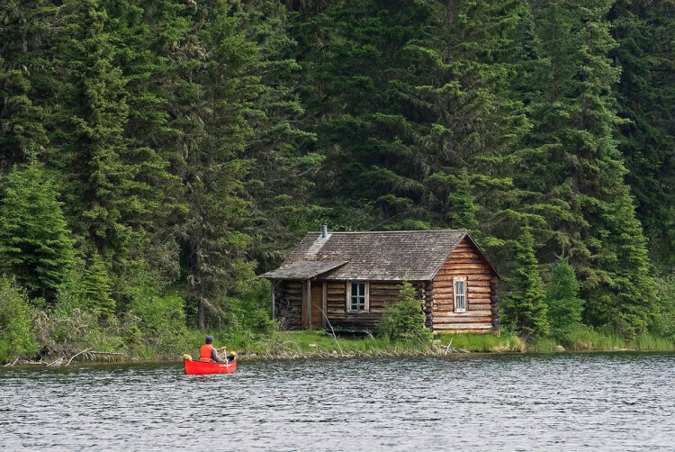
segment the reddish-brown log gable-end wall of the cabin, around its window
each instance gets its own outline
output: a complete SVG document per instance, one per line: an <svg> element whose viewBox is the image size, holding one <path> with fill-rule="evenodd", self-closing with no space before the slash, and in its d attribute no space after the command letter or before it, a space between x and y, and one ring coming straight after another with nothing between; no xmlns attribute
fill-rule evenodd
<svg viewBox="0 0 675 452"><path fill-rule="evenodd" d="M466 310L455 312L454 278L466 277ZM462 240L433 281L431 325L435 332L499 330L499 276L468 238Z"/></svg>

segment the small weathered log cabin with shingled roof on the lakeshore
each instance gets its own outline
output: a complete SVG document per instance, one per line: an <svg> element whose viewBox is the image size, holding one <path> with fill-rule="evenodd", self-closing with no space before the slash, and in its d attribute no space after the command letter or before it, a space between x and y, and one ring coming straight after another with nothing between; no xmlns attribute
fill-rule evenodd
<svg viewBox="0 0 675 452"><path fill-rule="evenodd" d="M499 334L495 267L467 231L308 232L272 283L285 329L377 330L403 281L418 290L426 326Z"/></svg>

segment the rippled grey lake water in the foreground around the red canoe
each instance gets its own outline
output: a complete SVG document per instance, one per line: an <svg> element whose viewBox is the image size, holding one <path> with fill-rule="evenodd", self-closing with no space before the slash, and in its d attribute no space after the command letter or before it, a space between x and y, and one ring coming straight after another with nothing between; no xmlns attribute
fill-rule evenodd
<svg viewBox="0 0 675 452"><path fill-rule="evenodd" d="M675 355L0 368L0 449L675 449Z"/></svg>

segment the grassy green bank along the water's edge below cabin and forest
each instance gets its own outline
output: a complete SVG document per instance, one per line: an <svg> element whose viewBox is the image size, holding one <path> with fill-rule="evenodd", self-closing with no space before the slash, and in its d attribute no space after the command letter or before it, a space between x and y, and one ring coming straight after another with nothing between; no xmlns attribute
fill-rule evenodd
<svg viewBox="0 0 675 452"><path fill-rule="evenodd" d="M558 345L566 351L675 351L675 342L650 334L623 339L616 334L585 330L575 336L554 340L538 339L527 344L512 334L439 334L431 342L420 340L390 341L385 338L336 337L322 331L274 331L266 335L214 331L215 345L237 351L240 359L293 359L329 357L416 357L446 356L453 353L551 353ZM68 347L52 350L41 357L40 364L63 366L87 361L158 361L177 360L184 354L193 357L203 343L204 334L184 330L171 337L163 336L151 344L129 345L129 340L95 331ZM93 352L93 353L92 353ZM106 353L108 352L108 353ZM13 362L5 359L5 362ZM23 359L19 362L30 362ZM33 361L34 362L34 361Z"/></svg>

